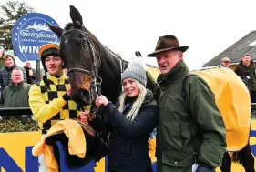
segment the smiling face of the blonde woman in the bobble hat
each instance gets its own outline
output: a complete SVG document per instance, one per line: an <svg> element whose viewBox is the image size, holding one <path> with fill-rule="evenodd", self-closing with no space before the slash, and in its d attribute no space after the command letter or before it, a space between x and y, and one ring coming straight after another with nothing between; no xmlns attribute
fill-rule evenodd
<svg viewBox="0 0 256 172"><path fill-rule="evenodd" d="M124 90L129 97L135 97L139 94L139 88L136 80L133 78L126 78L123 80Z"/></svg>

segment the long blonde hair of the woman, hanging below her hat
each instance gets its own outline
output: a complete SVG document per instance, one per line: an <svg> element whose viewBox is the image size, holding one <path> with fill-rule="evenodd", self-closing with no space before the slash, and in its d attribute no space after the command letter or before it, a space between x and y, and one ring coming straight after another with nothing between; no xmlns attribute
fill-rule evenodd
<svg viewBox="0 0 256 172"><path fill-rule="evenodd" d="M145 86L143 86L141 83L139 83L137 80L135 80L135 83L138 86L139 89L139 94L138 94L138 98L136 99L136 101L132 104L131 109L129 110L128 114L126 115L126 118L128 118L129 120L133 120L137 115L138 115L138 111L145 99L145 96L147 94L147 89ZM127 97L127 94L125 92L123 92L120 97L119 97L119 107L118 110L120 112L123 112L125 109L125 99Z"/></svg>

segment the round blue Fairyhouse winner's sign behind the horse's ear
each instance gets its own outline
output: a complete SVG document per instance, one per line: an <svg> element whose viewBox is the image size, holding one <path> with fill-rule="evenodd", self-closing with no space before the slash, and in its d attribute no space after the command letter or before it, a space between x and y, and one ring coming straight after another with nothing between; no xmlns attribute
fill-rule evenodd
<svg viewBox="0 0 256 172"><path fill-rule="evenodd" d="M39 60L38 50L46 43L58 43L59 39L48 25L57 25L56 21L48 15L29 13L20 17L12 31L12 43L15 54L25 62L26 60Z"/></svg>

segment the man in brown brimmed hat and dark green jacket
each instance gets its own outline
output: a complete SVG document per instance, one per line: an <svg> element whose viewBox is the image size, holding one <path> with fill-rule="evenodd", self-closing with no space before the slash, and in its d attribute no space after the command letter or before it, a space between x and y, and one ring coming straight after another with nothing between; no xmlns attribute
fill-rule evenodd
<svg viewBox="0 0 256 172"><path fill-rule="evenodd" d="M200 76L190 76L186 100L182 82L189 74L183 53L174 35L159 37L156 50L161 74L158 77L159 125L157 129L158 172L214 171L226 151L226 129L214 94ZM193 165L194 164L194 165Z"/></svg>

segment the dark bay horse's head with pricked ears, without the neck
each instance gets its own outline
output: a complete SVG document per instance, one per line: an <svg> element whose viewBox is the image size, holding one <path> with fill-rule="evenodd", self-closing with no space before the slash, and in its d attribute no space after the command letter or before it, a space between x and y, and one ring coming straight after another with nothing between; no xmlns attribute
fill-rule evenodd
<svg viewBox="0 0 256 172"><path fill-rule="evenodd" d="M100 80L97 70L100 66L97 46L87 34L82 16L77 8L70 6L72 23L64 29L49 25L60 37L59 56L67 64L67 76L71 84L71 97L78 104L86 106L92 103L97 94L97 83Z"/></svg>

